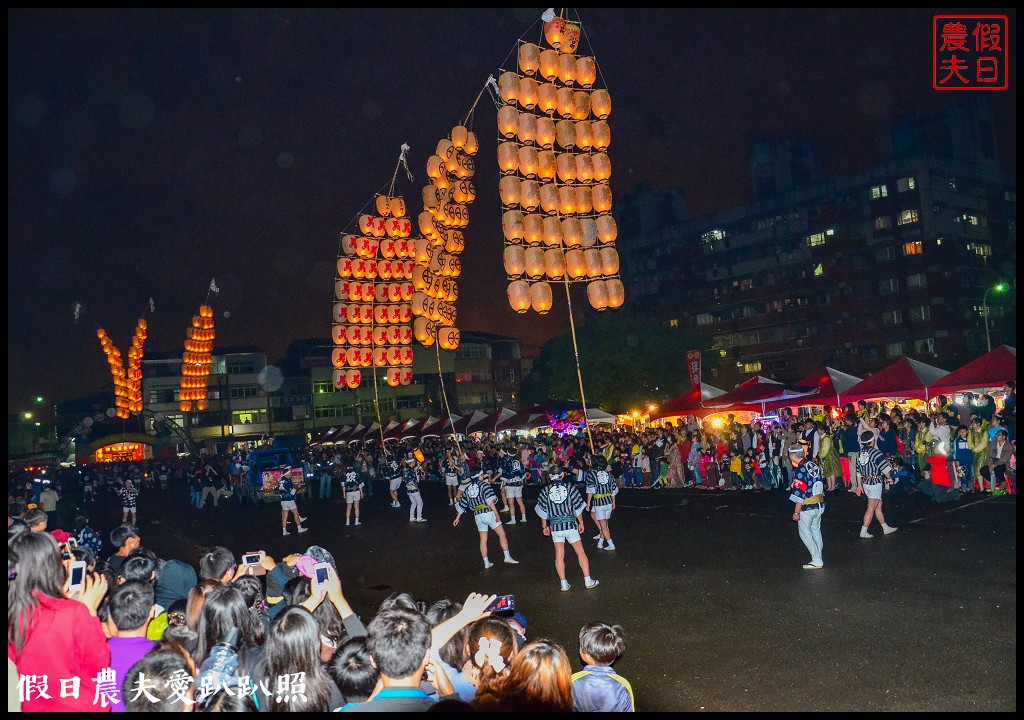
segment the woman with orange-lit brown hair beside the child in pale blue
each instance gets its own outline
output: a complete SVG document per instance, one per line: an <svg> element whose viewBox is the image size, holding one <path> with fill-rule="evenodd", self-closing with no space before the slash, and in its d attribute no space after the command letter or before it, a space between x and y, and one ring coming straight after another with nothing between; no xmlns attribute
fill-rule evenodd
<svg viewBox="0 0 1024 720"><path fill-rule="evenodd" d="M572 712L572 667L561 645L535 640L513 659L496 688L492 709L503 712Z"/></svg>

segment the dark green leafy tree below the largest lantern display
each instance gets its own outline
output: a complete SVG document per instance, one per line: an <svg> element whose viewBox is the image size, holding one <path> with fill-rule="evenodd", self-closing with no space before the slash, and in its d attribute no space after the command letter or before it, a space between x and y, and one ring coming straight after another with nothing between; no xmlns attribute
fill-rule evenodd
<svg viewBox="0 0 1024 720"><path fill-rule="evenodd" d="M689 388L686 352L709 357L710 338L687 328L623 312L588 313L577 324L580 368L588 405L626 412ZM570 331L552 338L519 390L524 404L580 399Z"/></svg>

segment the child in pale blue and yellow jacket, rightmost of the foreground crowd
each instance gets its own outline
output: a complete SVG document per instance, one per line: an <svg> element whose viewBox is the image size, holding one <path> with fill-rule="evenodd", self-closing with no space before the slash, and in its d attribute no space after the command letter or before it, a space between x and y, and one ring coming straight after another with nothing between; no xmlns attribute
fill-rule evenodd
<svg viewBox="0 0 1024 720"><path fill-rule="evenodd" d="M574 712L636 712L633 687L613 667L625 651L623 629L617 625L594 622L580 630L580 659L584 669L571 678Z"/></svg>

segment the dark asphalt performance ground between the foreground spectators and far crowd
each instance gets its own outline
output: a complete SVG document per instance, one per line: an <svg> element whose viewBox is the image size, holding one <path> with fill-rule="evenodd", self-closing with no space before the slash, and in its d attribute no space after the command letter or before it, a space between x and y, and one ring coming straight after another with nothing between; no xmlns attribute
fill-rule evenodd
<svg viewBox="0 0 1024 720"><path fill-rule="evenodd" d="M391 592L433 601L469 592L514 594L527 635L562 644L573 661L578 633L593 620L621 625L616 671L638 711L1014 711L1017 707L1016 496L967 496L952 504L889 498L895 535L858 538L865 500L831 494L822 521L824 562L804 570L807 551L786 493L624 491L611 518L617 549L587 553L600 581L583 587L566 548L560 592L552 543L534 513L506 525L518 565L501 562L492 535L484 570L475 525L452 526L444 489L424 490L427 522L409 522L377 490L362 524L344 526L344 506L299 499L308 533L281 535L276 504L237 499L199 512L186 493L139 500L143 545L198 562L204 546L281 559L323 545L337 559L356 611L369 620ZM402 495L402 498L404 496ZM150 501L152 499L152 502ZM111 527L119 508L95 512Z"/></svg>

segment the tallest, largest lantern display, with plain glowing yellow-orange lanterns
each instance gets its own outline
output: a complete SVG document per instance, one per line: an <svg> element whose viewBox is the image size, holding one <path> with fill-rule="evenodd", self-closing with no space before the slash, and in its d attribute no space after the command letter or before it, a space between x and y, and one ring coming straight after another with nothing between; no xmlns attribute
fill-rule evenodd
<svg viewBox="0 0 1024 720"><path fill-rule="evenodd" d="M622 305L621 293L612 302L609 292L622 288L608 187L611 97L597 84L592 53L578 52L580 39L578 24L561 16L546 19L541 44L520 40L517 67L503 69L501 76L499 154L508 161L499 159L503 218L523 218L522 231L505 227L504 234L509 303L516 312L547 312L552 281L586 284L597 310ZM585 262L577 249L589 247L590 228L598 229L599 263ZM557 261L547 277L530 262L536 250ZM532 292L537 284L544 288Z"/></svg>

